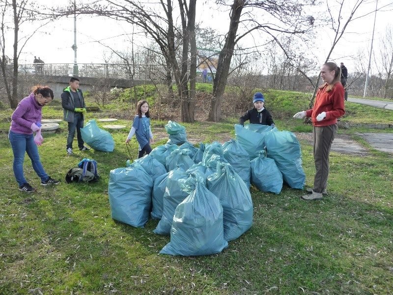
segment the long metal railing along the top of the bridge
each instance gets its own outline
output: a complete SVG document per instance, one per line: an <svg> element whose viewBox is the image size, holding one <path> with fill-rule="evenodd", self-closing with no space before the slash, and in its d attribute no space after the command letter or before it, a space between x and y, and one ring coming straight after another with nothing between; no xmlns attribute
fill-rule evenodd
<svg viewBox="0 0 393 295"><path fill-rule="evenodd" d="M159 64L126 63L28 63L19 64L18 71L30 75L117 79L157 79L165 75L164 67Z"/></svg>

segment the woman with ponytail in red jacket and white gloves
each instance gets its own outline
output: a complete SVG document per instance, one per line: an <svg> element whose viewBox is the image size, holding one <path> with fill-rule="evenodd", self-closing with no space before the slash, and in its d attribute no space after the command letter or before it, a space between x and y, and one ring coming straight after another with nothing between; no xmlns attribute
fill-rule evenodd
<svg viewBox="0 0 393 295"><path fill-rule="evenodd" d="M293 118L311 117L314 141L314 187L308 189L304 200L321 200L326 195L329 175L329 152L337 133L337 118L345 114L344 88L340 83L341 69L334 62L321 67L322 84L316 92L312 109L296 113Z"/></svg>

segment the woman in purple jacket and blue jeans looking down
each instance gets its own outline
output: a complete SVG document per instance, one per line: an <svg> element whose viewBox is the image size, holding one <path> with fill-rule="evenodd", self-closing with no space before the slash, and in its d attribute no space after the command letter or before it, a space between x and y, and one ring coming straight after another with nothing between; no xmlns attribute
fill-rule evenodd
<svg viewBox="0 0 393 295"><path fill-rule="evenodd" d="M32 93L21 100L11 116L12 121L8 139L14 154L13 170L20 191L31 193L35 190L28 184L23 174L25 152L28 153L35 173L41 178L41 185L60 183L60 181L46 174L33 137L33 132L38 131L41 126L41 109L50 103L53 97L53 91L48 86L34 86Z"/></svg>

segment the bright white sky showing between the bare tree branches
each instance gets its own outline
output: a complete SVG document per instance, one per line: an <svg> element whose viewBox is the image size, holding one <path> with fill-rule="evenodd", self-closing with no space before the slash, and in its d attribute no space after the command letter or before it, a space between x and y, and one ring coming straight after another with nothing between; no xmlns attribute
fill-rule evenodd
<svg viewBox="0 0 393 295"><path fill-rule="evenodd" d="M40 5L63 5L61 0L36 0ZM228 11L216 9L212 2L206 0L197 1L197 23L202 27L211 27L225 33L229 27ZM355 0L347 0L344 6L344 19L348 15L348 7ZM357 13L358 16L366 14L375 9L375 0L368 0L368 4L362 6ZM336 1L329 0L333 11L337 8ZM379 0L378 7L392 3L392 0ZM326 5L326 4L323 4ZM336 6L335 6L336 5ZM320 6L318 9L326 9ZM384 37L387 26L393 24L393 11L377 12L374 35L374 50L378 51L380 40ZM368 58L368 52L371 46L372 28L374 22L374 13L371 13L361 19L355 20L346 29L346 33L339 41L332 58L337 63L343 61L348 70L355 68L358 62L353 57L359 51L365 53ZM21 34L28 32L30 28L21 28ZM115 22L102 17L77 17L77 46L78 46L78 63L101 63L104 62L104 51L109 51L104 46L97 43L97 40L110 45L111 47L122 50L124 44L127 44L126 37L120 36L132 30L131 26L125 22ZM310 55L317 59L317 63L322 64L331 47L333 40L333 31L328 26L320 28L318 37L313 42L312 48L309 48ZM115 37L118 36L118 37ZM9 55L12 52L12 34L8 38ZM140 39L141 43L145 40ZM250 40L245 39L244 46ZM74 61L74 51L71 46L74 42L74 19L73 17L62 18L47 25L40 32L36 33L27 43L20 56L20 63L32 63L34 56L40 57L45 63L72 63ZM108 54L107 54L108 56Z"/></svg>

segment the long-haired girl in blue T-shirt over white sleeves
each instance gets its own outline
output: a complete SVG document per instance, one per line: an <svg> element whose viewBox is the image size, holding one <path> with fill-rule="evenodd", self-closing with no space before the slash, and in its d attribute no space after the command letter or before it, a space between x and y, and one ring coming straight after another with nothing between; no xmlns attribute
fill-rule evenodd
<svg viewBox="0 0 393 295"><path fill-rule="evenodd" d="M138 158L141 158L144 154L151 152L150 143L153 143L153 133L151 133L150 129L149 104L146 100L140 100L138 102L137 113L130 133L127 136L126 144L130 142L135 134L139 143Z"/></svg>

